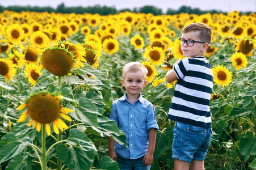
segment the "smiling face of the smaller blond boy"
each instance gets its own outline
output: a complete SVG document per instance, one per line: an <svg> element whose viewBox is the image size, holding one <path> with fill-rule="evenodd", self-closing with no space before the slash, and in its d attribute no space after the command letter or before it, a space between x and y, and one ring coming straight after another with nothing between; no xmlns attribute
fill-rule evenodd
<svg viewBox="0 0 256 170"><path fill-rule="evenodd" d="M142 88L146 86L147 81L142 71L127 73L124 79L121 79L122 85L125 87L128 96L139 95Z"/></svg>

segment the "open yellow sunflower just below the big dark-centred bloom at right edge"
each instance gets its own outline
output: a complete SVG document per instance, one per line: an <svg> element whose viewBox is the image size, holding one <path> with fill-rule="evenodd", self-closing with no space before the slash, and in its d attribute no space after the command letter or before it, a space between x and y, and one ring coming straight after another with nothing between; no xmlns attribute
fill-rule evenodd
<svg viewBox="0 0 256 170"><path fill-rule="evenodd" d="M247 58L243 53L234 53L231 57L232 66L236 67L236 70L240 70L247 66Z"/></svg>

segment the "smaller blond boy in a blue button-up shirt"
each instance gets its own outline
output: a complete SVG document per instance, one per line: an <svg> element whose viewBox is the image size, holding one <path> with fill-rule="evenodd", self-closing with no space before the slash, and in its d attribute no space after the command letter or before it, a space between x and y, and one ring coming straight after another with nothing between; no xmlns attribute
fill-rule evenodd
<svg viewBox="0 0 256 170"><path fill-rule="evenodd" d="M127 63L121 79L126 92L112 104L110 119L124 130L129 147L108 137L108 156L116 160L120 169L150 169L153 163L156 130L159 128L153 105L140 93L146 86L147 73L141 63Z"/></svg>

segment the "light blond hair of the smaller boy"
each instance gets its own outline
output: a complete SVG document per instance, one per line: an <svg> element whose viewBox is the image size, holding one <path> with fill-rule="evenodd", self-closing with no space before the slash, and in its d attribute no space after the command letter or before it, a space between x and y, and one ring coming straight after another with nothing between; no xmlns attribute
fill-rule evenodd
<svg viewBox="0 0 256 170"><path fill-rule="evenodd" d="M144 77L144 80L146 80L146 74L148 74L148 69L142 63L140 62L129 62L123 67L123 74L122 78L124 79L127 73L135 73L137 71L141 71Z"/></svg>

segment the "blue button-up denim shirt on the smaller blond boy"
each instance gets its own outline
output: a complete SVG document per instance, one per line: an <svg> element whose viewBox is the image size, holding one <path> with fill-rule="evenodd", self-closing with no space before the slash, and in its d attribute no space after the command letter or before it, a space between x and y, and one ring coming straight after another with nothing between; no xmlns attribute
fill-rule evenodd
<svg viewBox="0 0 256 170"><path fill-rule="evenodd" d="M148 152L148 130L158 130L154 106L148 100L140 97L131 104L126 96L114 101L110 120L114 120L120 130L126 135L129 148L115 142L115 152L123 158L137 159Z"/></svg>

